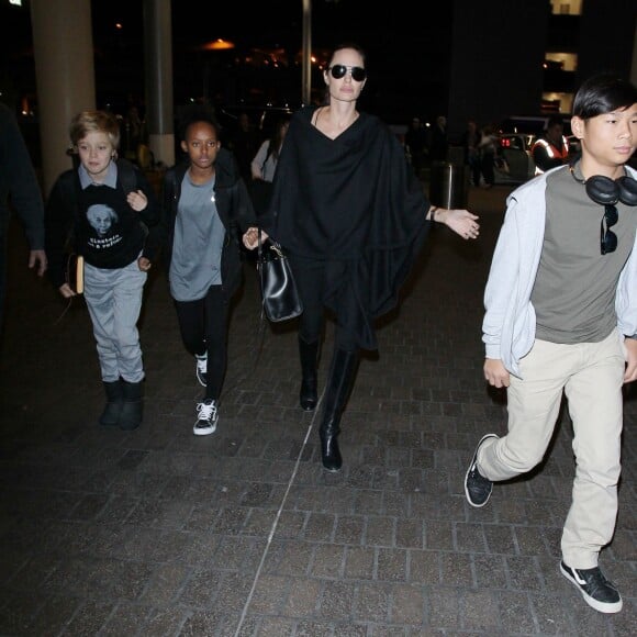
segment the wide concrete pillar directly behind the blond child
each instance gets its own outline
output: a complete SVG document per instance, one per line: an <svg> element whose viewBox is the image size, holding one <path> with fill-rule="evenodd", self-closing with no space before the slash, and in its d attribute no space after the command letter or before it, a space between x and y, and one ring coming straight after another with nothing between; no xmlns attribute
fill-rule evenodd
<svg viewBox="0 0 637 637"><path fill-rule="evenodd" d="M47 197L59 174L72 167L66 154L70 119L96 108L91 2L31 0L31 23Z"/></svg>

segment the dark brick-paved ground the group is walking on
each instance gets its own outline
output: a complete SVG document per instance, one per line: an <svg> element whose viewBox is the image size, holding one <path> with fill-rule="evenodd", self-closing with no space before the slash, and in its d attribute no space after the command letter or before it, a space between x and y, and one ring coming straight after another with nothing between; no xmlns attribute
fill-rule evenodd
<svg viewBox="0 0 637 637"><path fill-rule="evenodd" d="M505 427L482 380L482 292L507 191L472 191L478 243L436 228L404 302L381 322L343 418L338 474L297 404L293 325L267 327L256 278L232 317L221 420L192 435L201 388L161 272L146 293L146 416L99 427L82 301L64 309L12 233L0 354L0 635L637 635L634 434L627 392L617 532L602 566L622 613L559 574L573 462L568 414L532 476L463 495L479 437ZM14 241L13 241L14 239ZM326 328L320 383L332 347ZM633 431L632 431L633 429Z"/></svg>

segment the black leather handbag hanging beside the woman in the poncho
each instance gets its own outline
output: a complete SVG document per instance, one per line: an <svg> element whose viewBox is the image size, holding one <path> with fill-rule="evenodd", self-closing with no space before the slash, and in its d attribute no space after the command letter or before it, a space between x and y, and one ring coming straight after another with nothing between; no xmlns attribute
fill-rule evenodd
<svg viewBox="0 0 637 637"><path fill-rule="evenodd" d="M281 246L268 239L257 246L257 272L261 289L262 311L269 321L278 323L295 318L303 312L297 281Z"/></svg>

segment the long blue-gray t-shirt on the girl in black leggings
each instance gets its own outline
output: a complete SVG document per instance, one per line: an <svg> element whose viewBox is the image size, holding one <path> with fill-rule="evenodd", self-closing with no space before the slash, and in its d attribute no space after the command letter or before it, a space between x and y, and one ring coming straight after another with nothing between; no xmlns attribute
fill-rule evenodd
<svg viewBox="0 0 637 637"><path fill-rule="evenodd" d="M220 286L221 250L225 228L214 201L214 177L195 185L186 172L177 208L170 259L170 294L176 301L203 299L210 286Z"/></svg>

